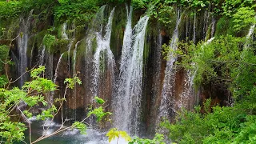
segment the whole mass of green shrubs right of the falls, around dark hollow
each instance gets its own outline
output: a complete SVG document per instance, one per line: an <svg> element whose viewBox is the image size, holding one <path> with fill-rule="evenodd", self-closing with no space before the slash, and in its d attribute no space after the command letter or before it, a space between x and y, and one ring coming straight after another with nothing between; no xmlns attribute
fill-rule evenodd
<svg viewBox="0 0 256 144"><path fill-rule="evenodd" d="M256 55L250 39L230 35L210 43L182 43L176 52L178 66L194 71L196 86L229 90L234 106L210 106L211 99L194 111L182 110L176 122L162 122L178 143L254 143L256 138ZM202 113L204 111L204 113Z"/></svg>

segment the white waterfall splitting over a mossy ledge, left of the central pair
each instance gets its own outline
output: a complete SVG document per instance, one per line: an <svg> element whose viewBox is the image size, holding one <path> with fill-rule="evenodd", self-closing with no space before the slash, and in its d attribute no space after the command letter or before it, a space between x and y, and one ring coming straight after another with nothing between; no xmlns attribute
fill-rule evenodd
<svg viewBox="0 0 256 144"><path fill-rule="evenodd" d="M93 93L94 96L98 95L98 81L99 81L99 75L100 75L100 62L104 58L104 55L106 53L108 66L111 69L111 75L114 76L114 55L112 51L110 50L110 37L111 37L111 30L112 30L112 20L114 18L114 10L111 10L110 17L108 19L108 23L106 25L106 34L103 37L103 34L101 32L96 32L96 40L97 40L97 48L96 52L94 54L94 89ZM102 30L102 28L101 28Z"/></svg>

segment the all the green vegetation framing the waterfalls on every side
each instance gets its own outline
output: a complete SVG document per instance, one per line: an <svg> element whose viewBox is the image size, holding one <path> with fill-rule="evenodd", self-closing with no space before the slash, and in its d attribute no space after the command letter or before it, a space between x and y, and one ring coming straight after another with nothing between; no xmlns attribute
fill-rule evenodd
<svg viewBox="0 0 256 144"><path fill-rule="evenodd" d="M24 123L14 115L18 103L26 102L30 107L37 104L46 105L43 95L58 88L53 82L42 78L44 67L31 72L31 81L26 82L22 89L13 86L8 78L10 66L9 50L12 42L18 36L17 19L29 15L33 10L33 33L38 33L34 41L38 45L44 43L54 52L56 47L66 44L60 38L59 27L63 22L74 24L74 31L82 31L90 24L100 6L131 3L137 10L146 11L150 18L162 24L168 30L175 21L175 10L178 8L190 11L193 15L202 10L209 10L219 18L215 38L212 42L179 42L177 54L178 68L191 70L194 74L195 88L198 86L218 85L229 90L234 98L234 106L212 106L208 99L202 106L196 106L193 111L181 110L176 122L162 122L161 126L169 130L166 134L173 142L178 143L254 143L256 141L256 45L254 34L246 38L250 26L255 25L254 0L0 0L0 135L3 141L15 142L24 139ZM6 25L10 23L10 25ZM46 28L38 28L41 25ZM71 31L71 32L74 32ZM255 31L255 30L254 30ZM22 34L20 34L22 36ZM170 47L163 46L168 54ZM66 79L66 88L72 88L78 78ZM62 104L65 101L57 99ZM99 107L92 110L88 116L94 114L98 120L110 114L104 112L102 99L95 100ZM38 119L53 118L60 111L50 106ZM26 116L31 116L24 111ZM23 114L19 111L18 114ZM25 117L26 117L25 116ZM23 117L23 115L22 115ZM84 132L86 126L75 122ZM131 139L123 131L116 129L108 133L110 140L123 137L130 143L163 143L162 135L156 134L153 140Z"/></svg>

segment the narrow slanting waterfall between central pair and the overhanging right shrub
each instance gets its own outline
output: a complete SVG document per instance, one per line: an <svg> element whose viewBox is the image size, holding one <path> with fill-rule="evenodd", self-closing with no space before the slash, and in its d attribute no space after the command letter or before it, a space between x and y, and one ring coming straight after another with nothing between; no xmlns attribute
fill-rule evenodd
<svg viewBox="0 0 256 144"><path fill-rule="evenodd" d="M166 70L165 70L165 78L162 88L162 99L161 104L159 108L159 114L157 121L160 122L162 117L168 117L170 116L170 107L172 106L172 99L173 94L173 86L175 84L175 70L174 70L174 62L176 61L176 57L174 56L173 51L177 50L178 48L178 26L181 22L181 14L178 10L178 18L174 30L174 34L172 36L172 41L170 42L170 54L169 54L169 60L166 63ZM174 110L172 110L174 111ZM157 122L157 123L158 123Z"/></svg>

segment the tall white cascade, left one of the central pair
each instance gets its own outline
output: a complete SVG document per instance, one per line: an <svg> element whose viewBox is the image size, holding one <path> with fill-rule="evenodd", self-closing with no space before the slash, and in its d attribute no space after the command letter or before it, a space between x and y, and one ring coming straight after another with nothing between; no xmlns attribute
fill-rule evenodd
<svg viewBox="0 0 256 144"><path fill-rule="evenodd" d="M128 124L129 116L128 114L128 105L129 105L129 97L124 98L126 95L126 85L129 77L128 67L130 66L130 61L132 57L132 26L131 26L131 19L132 19L132 12L133 8L130 6L129 8L126 5L126 13L127 13L127 22L126 22L126 30L124 33L123 38L123 45L122 45L122 55L121 55L121 62L120 62L120 73L118 78L118 94L115 98L115 106L114 106L114 125L118 127L120 130L127 130L126 124ZM128 88L129 90L129 88ZM120 117L122 115L122 117ZM123 118L125 117L126 118Z"/></svg>

